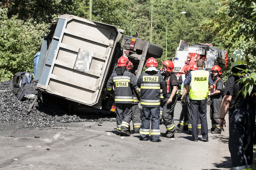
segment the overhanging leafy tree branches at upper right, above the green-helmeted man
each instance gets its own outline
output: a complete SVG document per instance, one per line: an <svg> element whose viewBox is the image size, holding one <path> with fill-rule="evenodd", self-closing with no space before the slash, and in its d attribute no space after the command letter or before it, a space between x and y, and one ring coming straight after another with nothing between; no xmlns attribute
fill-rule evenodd
<svg viewBox="0 0 256 170"><path fill-rule="evenodd" d="M251 63L254 63L250 64L249 68L251 71L255 71L255 57L253 56L256 55L256 42L254 39L256 23L252 19L255 13L252 8L247 7L249 1L246 2L246 4L245 1L238 2L235 0L220 2L221 8L217 10L212 19L204 21L200 29L219 36L229 56L236 49L244 49L248 56L252 57ZM251 3L252 1L250 5ZM255 6L255 3L253 6ZM230 64L226 70L228 71L224 73L224 80L232 74Z"/></svg>

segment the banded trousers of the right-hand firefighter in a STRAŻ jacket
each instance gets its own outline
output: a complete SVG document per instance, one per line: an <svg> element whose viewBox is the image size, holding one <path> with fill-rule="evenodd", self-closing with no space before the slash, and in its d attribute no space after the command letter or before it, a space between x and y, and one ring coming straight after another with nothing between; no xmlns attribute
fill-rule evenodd
<svg viewBox="0 0 256 170"><path fill-rule="evenodd" d="M142 119L140 125L140 138L148 139L149 133L152 141L158 141L160 137L160 107L142 107ZM150 132L151 117L151 132Z"/></svg>

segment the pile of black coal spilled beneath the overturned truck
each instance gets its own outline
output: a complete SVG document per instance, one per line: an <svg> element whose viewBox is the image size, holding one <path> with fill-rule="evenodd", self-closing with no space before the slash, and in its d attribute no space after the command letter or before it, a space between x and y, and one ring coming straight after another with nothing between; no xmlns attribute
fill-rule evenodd
<svg viewBox="0 0 256 170"><path fill-rule="evenodd" d="M0 122L17 124L18 127L44 129L45 127L63 126L61 123L96 121L116 121L114 114L104 114L101 110L94 113L74 109L70 113L66 100L59 100L52 95L38 97L28 113L33 99L17 100L13 90L9 89L10 81L0 82ZM37 81L32 80L30 91L35 90ZM90 110L90 109L89 109ZM65 125L65 124L64 124Z"/></svg>

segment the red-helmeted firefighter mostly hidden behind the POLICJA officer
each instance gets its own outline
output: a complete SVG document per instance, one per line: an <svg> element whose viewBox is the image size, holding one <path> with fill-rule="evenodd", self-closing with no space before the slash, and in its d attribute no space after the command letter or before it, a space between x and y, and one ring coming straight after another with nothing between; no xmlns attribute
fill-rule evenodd
<svg viewBox="0 0 256 170"><path fill-rule="evenodd" d="M197 65L196 63L192 64L190 66L190 69L189 69L189 73L188 75L190 74L191 71L195 71L197 70ZM186 89L184 89L184 91L187 92ZM191 113L190 113L190 97L189 97L189 92L187 92L187 95L186 95L186 103L187 103L187 123L188 124L188 131L189 131L189 134L192 134L192 124L191 124ZM201 135L201 121L200 121L200 115L199 115L199 112L197 113L198 114L198 117L197 117L197 132L198 132L198 135Z"/></svg>

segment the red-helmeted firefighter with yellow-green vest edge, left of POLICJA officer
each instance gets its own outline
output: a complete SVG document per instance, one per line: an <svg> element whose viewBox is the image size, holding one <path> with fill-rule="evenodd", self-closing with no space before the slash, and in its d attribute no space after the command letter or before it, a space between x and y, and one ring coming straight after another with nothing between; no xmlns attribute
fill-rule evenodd
<svg viewBox="0 0 256 170"><path fill-rule="evenodd" d="M186 89L184 89L184 81L187 78L189 70L190 70L190 65L187 65L185 67L185 70L184 70L185 74L182 74L179 77L179 80L178 80L178 85L180 87L180 93L182 94L181 98L180 98L180 104L182 105L182 110L181 110L181 113L180 113L180 122L179 122L179 124L175 128L176 128L176 131L180 132L180 133L183 130L187 130L188 129L187 103L186 103L187 91L186 91Z"/></svg>

